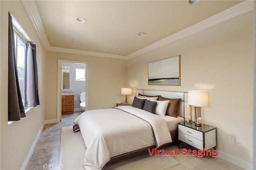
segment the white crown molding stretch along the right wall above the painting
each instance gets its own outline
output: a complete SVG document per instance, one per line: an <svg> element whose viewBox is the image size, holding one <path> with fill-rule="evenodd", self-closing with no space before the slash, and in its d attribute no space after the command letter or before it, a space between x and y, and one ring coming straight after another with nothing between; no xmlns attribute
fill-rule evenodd
<svg viewBox="0 0 256 170"><path fill-rule="evenodd" d="M174 41L180 40L186 36L195 34L196 32L199 32L201 30L204 30L206 28L209 28L211 26L219 24L220 22L223 22L225 20L228 20L230 18L233 18L235 16L244 14L244 13L252 11L252 10L253 10L253 1L246 0L244 2L241 2L240 4L237 4L236 6L228 8L227 10L224 10L210 18L207 18L206 20L198 22L188 28L185 28L184 30L176 32L175 34L172 34L171 36L168 36L168 37L166 37L162 40L159 40L153 44L150 44L149 46L146 46L136 52L133 52L133 53L127 55L126 59L134 58L136 56L139 56L141 54L144 54L146 52L149 52L151 50L154 50L156 48L164 46L166 44L172 43Z"/></svg>

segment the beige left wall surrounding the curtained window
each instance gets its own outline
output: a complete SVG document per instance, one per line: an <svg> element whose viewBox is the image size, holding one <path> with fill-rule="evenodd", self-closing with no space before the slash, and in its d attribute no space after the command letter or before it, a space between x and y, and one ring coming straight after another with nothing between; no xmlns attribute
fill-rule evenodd
<svg viewBox="0 0 256 170"><path fill-rule="evenodd" d="M44 123L45 57L34 26L30 22L20 1L0 1L0 128L1 128L1 170L18 170ZM37 50L38 88L40 105L26 113L26 117L8 126L8 12L18 20Z"/></svg>

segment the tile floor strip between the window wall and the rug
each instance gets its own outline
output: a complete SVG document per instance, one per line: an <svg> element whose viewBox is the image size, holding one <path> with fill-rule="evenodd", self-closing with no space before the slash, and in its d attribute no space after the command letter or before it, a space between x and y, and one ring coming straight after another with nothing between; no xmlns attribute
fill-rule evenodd
<svg viewBox="0 0 256 170"><path fill-rule="evenodd" d="M63 114L58 124L46 124L28 162L26 170L56 169L60 161L61 128L73 125L73 121L82 111ZM51 169L52 170L52 169Z"/></svg>

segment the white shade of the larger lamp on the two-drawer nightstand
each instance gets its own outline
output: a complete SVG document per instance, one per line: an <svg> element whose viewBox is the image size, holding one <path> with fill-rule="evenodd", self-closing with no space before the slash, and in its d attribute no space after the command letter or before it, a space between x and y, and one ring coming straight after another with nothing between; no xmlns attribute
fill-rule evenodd
<svg viewBox="0 0 256 170"><path fill-rule="evenodd" d="M188 104L192 106L208 106L208 91L188 90Z"/></svg>

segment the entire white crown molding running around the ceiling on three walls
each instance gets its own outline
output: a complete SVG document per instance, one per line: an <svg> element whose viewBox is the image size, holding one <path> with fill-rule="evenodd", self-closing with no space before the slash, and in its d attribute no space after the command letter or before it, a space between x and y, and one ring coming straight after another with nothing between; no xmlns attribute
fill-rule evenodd
<svg viewBox="0 0 256 170"><path fill-rule="evenodd" d="M206 20L198 22L197 24L194 24L188 28L185 28L184 30L176 32L175 34L172 34L171 36L168 36L162 40L159 40L153 44L150 44L149 46L146 46L140 50L137 50L136 52L128 54L127 56L121 56L121 55L115 55L115 54L107 54L107 53L100 53L100 52L91 52L91 51L75 50L75 49L70 49L70 48L60 48L60 47L50 46L50 43L46 36L46 32L44 30L44 26L40 19L40 15L38 13L35 1L34 0L21 0L21 2L23 4L30 20L32 21L32 23L34 25L36 32L38 33L39 38L42 41L42 44L44 45L44 48L47 51L82 54L82 55L90 55L90 56L100 56L100 57L108 57L108 58L118 58L118 59L124 59L124 60L134 58L136 56L139 56L146 52L152 51L156 48L159 48L166 44L170 44L170 43L180 40L186 36L195 34L196 32L199 32L201 30L204 30L206 28L209 28L211 26L219 24L225 20L228 20L230 18L233 18L235 16L238 16L238 15L241 15L241 14L244 14L246 12L253 10L253 1L246 0L244 2L241 2L240 4L237 4L236 6L233 6L225 11L222 11L210 18L207 18Z"/></svg>

